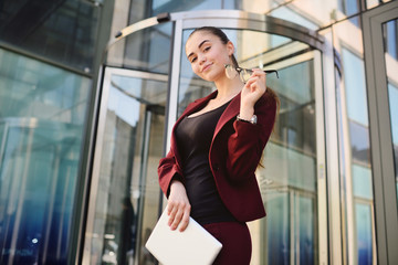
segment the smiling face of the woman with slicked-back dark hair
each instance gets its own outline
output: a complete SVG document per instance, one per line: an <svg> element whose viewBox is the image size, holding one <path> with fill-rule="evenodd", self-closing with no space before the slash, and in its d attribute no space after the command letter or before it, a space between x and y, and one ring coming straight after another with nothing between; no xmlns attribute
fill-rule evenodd
<svg viewBox="0 0 398 265"><path fill-rule="evenodd" d="M224 64L230 63L232 42L223 44L219 36L207 31L193 33L186 43L186 54L193 73L206 81L226 77Z"/></svg>

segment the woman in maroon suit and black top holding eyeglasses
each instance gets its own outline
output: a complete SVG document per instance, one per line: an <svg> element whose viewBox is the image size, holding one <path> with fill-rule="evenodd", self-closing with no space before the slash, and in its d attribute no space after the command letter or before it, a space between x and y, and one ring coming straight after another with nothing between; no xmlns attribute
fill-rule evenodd
<svg viewBox="0 0 398 265"><path fill-rule="evenodd" d="M233 52L217 28L199 28L188 38L192 71L217 89L188 105L177 120L158 173L171 230L184 231L191 216L223 245L214 264L245 265L251 258L245 222L265 216L254 171L279 99L261 70L242 82Z"/></svg>

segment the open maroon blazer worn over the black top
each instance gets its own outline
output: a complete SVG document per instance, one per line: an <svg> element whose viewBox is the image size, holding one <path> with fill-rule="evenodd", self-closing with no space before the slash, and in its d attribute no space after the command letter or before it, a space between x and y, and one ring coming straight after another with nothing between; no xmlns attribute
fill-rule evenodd
<svg viewBox="0 0 398 265"><path fill-rule="evenodd" d="M185 116L201 109L216 95L217 91L189 104L176 125ZM218 192L227 209L238 221L249 222L265 216L254 171L275 121L276 102L269 93L264 93L255 103L256 125L238 121L239 112L240 94L227 106L216 126L209 162ZM167 198L170 182L176 174L184 183L182 165L176 145L176 125L171 134L170 151L160 159L158 167L159 184Z"/></svg>

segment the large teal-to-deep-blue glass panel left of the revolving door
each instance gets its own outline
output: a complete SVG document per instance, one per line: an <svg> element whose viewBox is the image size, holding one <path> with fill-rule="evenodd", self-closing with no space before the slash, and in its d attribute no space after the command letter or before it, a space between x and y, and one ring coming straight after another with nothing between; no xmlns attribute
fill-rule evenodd
<svg viewBox="0 0 398 265"><path fill-rule="evenodd" d="M91 82L0 50L4 264L66 264Z"/></svg>

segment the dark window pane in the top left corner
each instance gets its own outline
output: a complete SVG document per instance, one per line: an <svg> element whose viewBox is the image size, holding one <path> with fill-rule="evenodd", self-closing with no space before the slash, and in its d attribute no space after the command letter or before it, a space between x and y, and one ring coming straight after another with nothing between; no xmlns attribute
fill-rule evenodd
<svg viewBox="0 0 398 265"><path fill-rule="evenodd" d="M82 0L3 0L0 40L57 63L91 72L98 8Z"/></svg>

